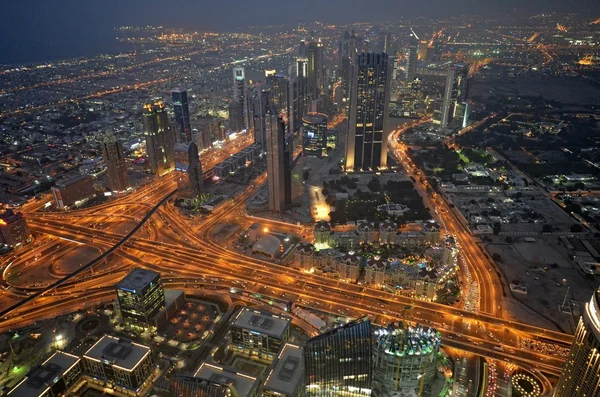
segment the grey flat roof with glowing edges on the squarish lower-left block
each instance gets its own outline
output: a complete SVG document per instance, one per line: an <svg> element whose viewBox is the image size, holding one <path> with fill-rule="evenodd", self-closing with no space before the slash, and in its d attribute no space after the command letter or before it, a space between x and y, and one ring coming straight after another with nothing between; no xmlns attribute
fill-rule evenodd
<svg viewBox="0 0 600 397"><path fill-rule="evenodd" d="M96 361L108 361L111 365L133 370L148 354L150 348L128 339L104 335L83 355Z"/></svg>

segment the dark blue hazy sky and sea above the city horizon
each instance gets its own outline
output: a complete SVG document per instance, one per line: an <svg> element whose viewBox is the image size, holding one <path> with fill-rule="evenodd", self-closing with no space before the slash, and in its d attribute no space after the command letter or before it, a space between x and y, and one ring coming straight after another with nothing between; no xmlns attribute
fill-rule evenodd
<svg viewBox="0 0 600 397"><path fill-rule="evenodd" d="M243 25L394 20L468 13L600 11L597 0L6 0L0 63L118 50L112 28L163 25L229 31ZM514 11L513 11L514 12ZM600 16L600 15L598 15Z"/></svg>

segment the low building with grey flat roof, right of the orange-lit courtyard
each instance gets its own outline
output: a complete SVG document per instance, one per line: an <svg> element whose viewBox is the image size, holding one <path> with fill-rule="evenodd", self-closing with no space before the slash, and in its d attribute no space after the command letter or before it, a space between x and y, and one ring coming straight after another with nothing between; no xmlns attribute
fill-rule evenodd
<svg viewBox="0 0 600 397"><path fill-rule="evenodd" d="M230 348L248 357L273 360L289 339L291 322L288 316L241 308L230 326Z"/></svg>

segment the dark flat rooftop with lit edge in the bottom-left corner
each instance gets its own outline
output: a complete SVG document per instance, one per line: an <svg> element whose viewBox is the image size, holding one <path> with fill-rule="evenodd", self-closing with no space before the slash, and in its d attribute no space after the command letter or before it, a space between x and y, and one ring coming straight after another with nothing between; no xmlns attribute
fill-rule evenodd
<svg viewBox="0 0 600 397"><path fill-rule="evenodd" d="M10 397L37 397L45 395L49 387L80 361L80 358L69 353L57 351L42 365L34 367L27 376L15 386L8 395Z"/></svg>

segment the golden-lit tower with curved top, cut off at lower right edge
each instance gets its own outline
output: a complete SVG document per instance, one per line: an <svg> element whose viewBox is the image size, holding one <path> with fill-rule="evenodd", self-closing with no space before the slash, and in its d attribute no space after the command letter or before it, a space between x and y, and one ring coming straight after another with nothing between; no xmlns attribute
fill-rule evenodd
<svg viewBox="0 0 600 397"><path fill-rule="evenodd" d="M585 304L554 397L600 395L600 289Z"/></svg>

